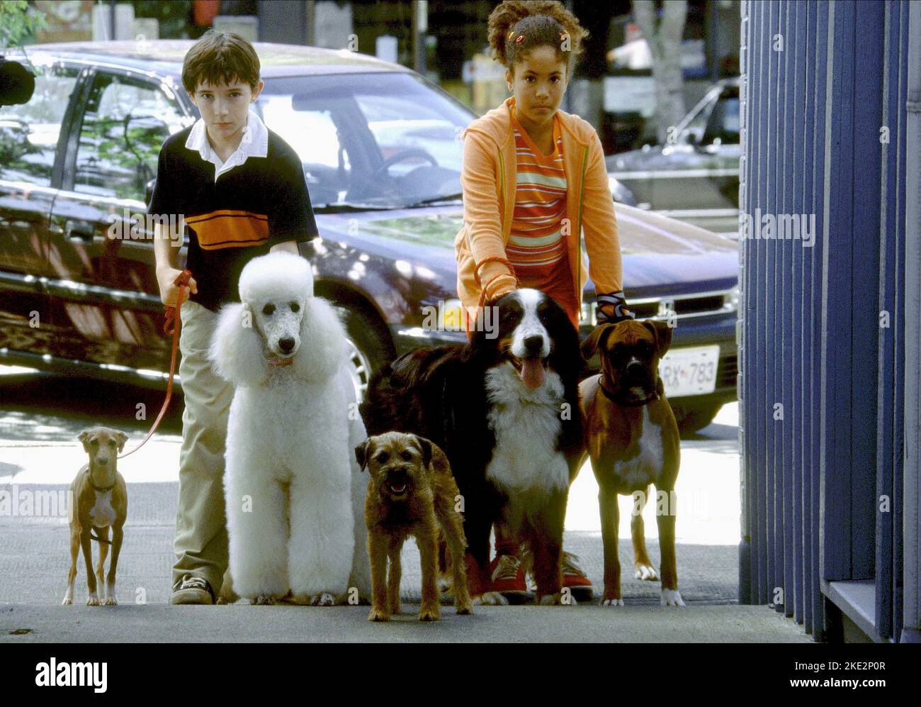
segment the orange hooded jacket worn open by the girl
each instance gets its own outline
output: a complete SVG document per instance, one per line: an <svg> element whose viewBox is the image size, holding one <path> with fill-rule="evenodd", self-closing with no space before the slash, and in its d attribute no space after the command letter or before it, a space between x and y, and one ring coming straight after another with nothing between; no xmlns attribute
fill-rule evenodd
<svg viewBox="0 0 921 707"><path fill-rule="evenodd" d="M507 265L486 258L506 257L506 244L515 209L517 162L511 111L515 99L473 121L464 131L463 226L454 239L458 261L458 296L463 311L473 320L485 300L494 300L516 286ZM604 152L595 129L587 121L557 111L562 126L563 159L567 184L566 218L563 232L568 241L569 267L576 300L591 276L598 292L623 289L621 246ZM589 266L582 253L585 234Z"/></svg>

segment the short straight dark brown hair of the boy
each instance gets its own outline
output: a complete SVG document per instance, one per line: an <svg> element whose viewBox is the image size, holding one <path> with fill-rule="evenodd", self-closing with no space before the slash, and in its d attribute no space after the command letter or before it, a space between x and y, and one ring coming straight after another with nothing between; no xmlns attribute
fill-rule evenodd
<svg viewBox="0 0 921 707"><path fill-rule="evenodd" d="M259 85L256 50L234 32L205 32L182 61L182 86L194 93L202 83L217 86L235 80L249 84L253 90Z"/></svg>

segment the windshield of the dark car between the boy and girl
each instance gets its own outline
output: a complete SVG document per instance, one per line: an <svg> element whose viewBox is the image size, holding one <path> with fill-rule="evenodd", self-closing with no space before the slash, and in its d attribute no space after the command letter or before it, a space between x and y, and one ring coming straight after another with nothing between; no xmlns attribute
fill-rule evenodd
<svg viewBox="0 0 921 707"><path fill-rule="evenodd" d="M460 136L474 116L412 74L269 78L256 109L297 151L315 207L461 192Z"/></svg>

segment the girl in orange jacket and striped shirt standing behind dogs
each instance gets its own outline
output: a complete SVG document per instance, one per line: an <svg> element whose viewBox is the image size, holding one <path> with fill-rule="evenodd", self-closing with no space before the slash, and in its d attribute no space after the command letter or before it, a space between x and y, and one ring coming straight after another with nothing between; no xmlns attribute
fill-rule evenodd
<svg viewBox="0 0 921 707"><path fill-rule="evenodd" d="M464 225L455 250L468 335L480 307L517 288L541 289L578 328L589 275L599 324L633 318L600 140L586 121L559 110L585 36L558 2L504 2L490 15L489 43L512 96L464 132ZM492 590L525 593L517 544L498 527L495 551ZM590 596L573 556L563 564L564 586Z"/></svg>

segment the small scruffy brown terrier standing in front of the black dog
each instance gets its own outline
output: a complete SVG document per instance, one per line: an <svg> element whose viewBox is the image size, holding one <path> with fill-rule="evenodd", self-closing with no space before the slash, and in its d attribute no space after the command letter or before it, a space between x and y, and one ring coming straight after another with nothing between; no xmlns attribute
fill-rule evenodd
<svg viewBox="0 0 921 707"><path fill-rule="evenodd" d="M438 603L438 530L444 534L454 573L454 607L471 614L464 571L463 519L454 510L460 495L448 457L434 442L414 434L387 432L355 448L358 465L370 471L365 498L367 554L371 560L369 621L388 621L400 613L400 550L415 536L422 560L420 621L441 618ZM390 578L387 560L391 560Z"/></svg>

